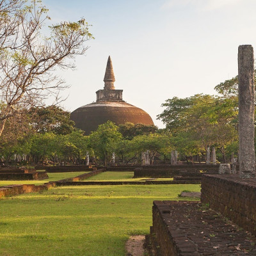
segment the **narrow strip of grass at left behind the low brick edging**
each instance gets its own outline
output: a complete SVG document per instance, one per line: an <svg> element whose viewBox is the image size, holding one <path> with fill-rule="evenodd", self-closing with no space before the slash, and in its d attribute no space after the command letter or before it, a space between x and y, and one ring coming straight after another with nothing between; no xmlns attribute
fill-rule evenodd
<svg viewBox="0 0 256 256"><path fill-rule="evenodd" d="M49 181L57 181L62 179L68 179L71 177L76 177L87 172L61 172L61 173L47 173L49 179L45 180L0 180L0 186L7 186L12 184L35 184L42 185Z"/></svg>

